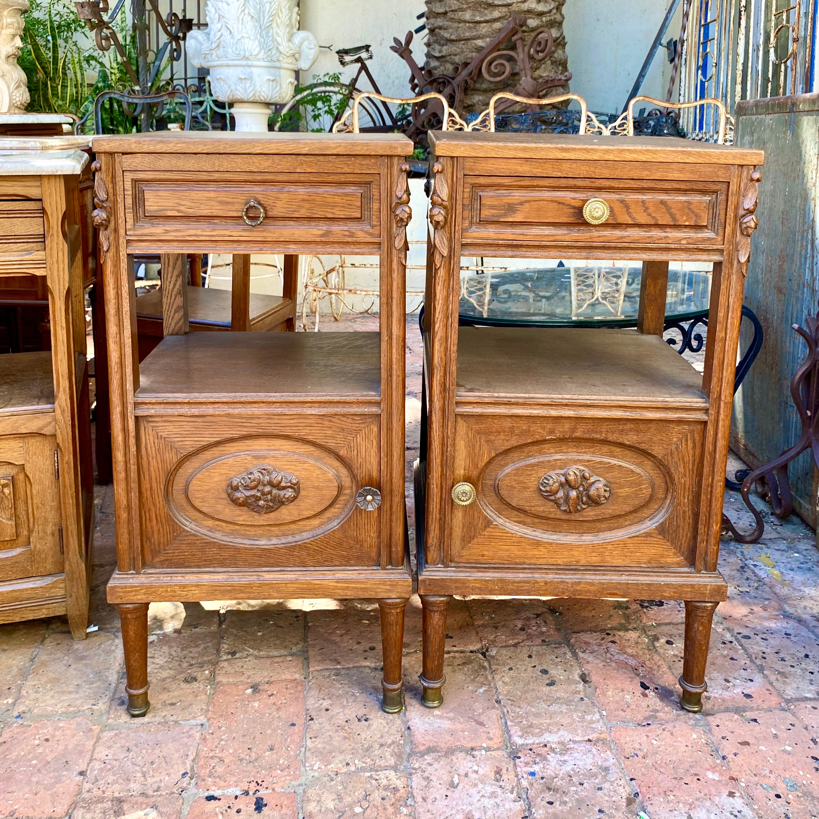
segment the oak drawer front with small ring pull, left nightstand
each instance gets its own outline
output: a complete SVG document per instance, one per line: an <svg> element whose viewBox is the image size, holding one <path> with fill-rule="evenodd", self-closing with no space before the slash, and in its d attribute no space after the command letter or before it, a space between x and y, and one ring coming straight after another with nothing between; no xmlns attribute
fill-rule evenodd
<svg viewBox="0 0 819 819"><path fill-rule="evenodd" d="M375 174L149 174L126 172L129 239L161 238L182 231L216 242L378 241ZM249 225L242 210L251 201L264 219ZM260 218L255 207L247 219ZM166 238L166 237L165 237Z"/></svg>

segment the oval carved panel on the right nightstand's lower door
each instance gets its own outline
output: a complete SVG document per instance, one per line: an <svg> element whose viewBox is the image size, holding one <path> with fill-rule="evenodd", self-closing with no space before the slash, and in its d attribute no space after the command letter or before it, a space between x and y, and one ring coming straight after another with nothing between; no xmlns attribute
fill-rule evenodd
<svg viewBox="0 0 819 819"><path fill-rule="evenodd" d="M581 498L583 491L592 497L564 500L574 482ZM563 542L612 541L645 532L667 518L674 495L671 473L646 450L576 438L536 441L495 455L478 489L481 508L495 523L527 537Z"/></svg>

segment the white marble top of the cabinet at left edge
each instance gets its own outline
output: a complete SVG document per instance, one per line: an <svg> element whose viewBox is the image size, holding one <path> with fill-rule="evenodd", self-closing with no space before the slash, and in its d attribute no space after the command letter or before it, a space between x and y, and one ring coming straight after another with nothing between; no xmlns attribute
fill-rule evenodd
<svg viewBox="0 0 819 819"><path fill-rule="evenodd" d="M0 137L0 175L79 174L89 161L80 149L90 144L90 136Z"/></svg>

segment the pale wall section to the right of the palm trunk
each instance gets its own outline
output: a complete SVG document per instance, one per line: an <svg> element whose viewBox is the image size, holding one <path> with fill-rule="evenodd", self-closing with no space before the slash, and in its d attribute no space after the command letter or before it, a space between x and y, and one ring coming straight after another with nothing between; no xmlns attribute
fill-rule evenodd
<svg viewBox="0 0 819 819"><path fill-rule="evenodd" d="M563 33L572 72L569 88L586 99L591 111L622 111L669 4L670 0L566 0ZM682 5L663 43L680 36ZM665 99L670 78L671 64L661 47L640 93Z"/></svg>

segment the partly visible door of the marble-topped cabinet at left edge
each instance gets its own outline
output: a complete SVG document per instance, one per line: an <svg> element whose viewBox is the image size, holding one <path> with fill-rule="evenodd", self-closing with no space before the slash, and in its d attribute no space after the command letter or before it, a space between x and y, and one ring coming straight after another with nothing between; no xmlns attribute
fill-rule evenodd
<svg viewBox="0 0 819 819"><path fill-rule="evenodd" d="M0 581L63 570L56 450L52 435L0 437Z"/></svg>

